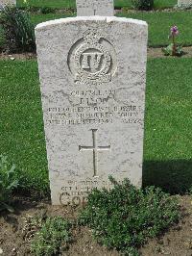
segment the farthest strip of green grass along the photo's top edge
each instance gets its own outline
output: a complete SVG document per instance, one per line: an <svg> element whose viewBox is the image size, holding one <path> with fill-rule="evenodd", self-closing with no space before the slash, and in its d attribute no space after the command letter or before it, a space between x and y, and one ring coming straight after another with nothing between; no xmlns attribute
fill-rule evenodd
<svg viewBox="0 0 192 256"><path fill-rule="evenodd" d="M75 8L75 0L28 0L30 6L33 7L50 7L50 8ZM155 5L158 8L173 7L177 4L177 0L155 0ZM132 7L132 0L114 0L114 5L117 8ZM23 0L17 0L17 6L26 6Z"/></svg>

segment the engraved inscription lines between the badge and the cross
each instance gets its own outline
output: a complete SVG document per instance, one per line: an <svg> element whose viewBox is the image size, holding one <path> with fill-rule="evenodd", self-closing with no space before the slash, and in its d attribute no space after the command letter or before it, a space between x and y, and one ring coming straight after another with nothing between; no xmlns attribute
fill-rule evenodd
<svg viewBox="0 0 192 256"><path fill-rule="evenodd" d="M46 124L105 124L113 123L116 118L127 124L142 123L142 107L125 104L116 94L115 90L73 90L69 93L69 106L47 109ZM71 105L72 102L76 104Z"/></svg>

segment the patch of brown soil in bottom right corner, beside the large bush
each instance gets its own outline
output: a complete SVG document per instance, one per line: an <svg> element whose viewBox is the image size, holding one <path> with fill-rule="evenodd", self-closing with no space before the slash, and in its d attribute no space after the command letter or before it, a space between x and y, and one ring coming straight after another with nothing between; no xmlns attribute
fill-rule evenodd
<svg viewBox="0 0 192 256"><path fill-rule="evenodd" d="M141 248L142 256L149 255L192 255L192 196L178 196L182 218L161 237L151 240Z"/></svg>

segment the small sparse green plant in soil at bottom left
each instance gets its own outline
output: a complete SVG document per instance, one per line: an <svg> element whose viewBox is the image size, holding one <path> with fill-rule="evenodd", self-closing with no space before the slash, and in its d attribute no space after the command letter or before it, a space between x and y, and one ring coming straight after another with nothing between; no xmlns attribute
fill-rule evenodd
<svg viewBox="0 0 192 256"><path fill-rule="evenodd" d="M71 223L61 217L47 218L31 243L36 256L59 255L71 241Z"/></svg>

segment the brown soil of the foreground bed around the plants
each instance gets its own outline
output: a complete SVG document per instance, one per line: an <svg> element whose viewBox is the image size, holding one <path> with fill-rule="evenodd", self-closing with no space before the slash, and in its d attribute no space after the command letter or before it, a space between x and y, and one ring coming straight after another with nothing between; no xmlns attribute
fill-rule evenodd
<svg viewBox="0 0 192 256"><path fill-rule="evenodd" d="M143 256L192 255L192 197L178 196L182 218L180 223L170 228L161 237L150 240L140 249ZM78 209L51 206L50 202L36 203L26 198L14 200L15 213L0 213L0 255L26 256L30 253L30 241L33 231L26 228L27 219L36 216L61 216L75 219ZM3 253L1 254L1 250ZM91 237L88 228L76 228L73 231L73 243L70 244L64 256L118 256L117 251L109 251L106 247L96 243Z"/></svg>

